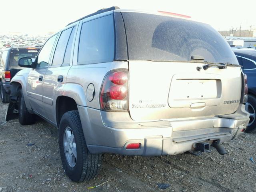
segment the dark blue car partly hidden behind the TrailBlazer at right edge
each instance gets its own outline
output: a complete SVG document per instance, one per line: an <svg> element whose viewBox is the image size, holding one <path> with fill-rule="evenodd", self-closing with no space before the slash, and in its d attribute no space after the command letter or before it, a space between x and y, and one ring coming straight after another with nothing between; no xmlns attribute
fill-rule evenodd
<svg viewBox="0 0 256 192"><path fill-rule="evenodd" d="M232 48L244 74L247 75L248 101L246 110L250 113L250 122L246 132L256 131L256 49Z"/></svg>

